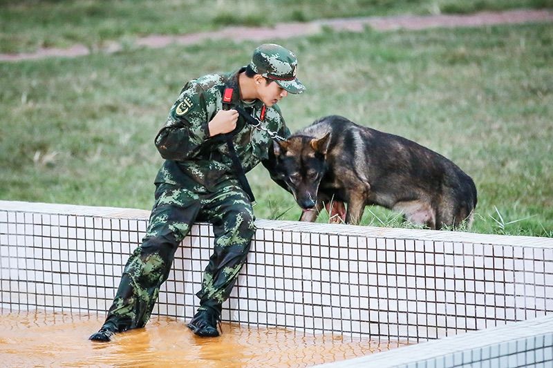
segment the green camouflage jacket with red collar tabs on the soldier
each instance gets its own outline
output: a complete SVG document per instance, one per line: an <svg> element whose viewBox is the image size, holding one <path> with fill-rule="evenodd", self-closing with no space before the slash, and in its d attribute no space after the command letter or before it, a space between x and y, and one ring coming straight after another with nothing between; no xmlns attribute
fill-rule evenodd
<svg viewBox="0 0 553 368"><path fill-rule="evenodd" d="M224 136L209 137L207 124L223 108L223 93L228 84L236 86L230 107L242 106L252 116L261 119L262 101L247 104L239 98L238 74L243 70L206 75L185 84L169 111L165 126L156 137L156 147L165 159L156 184L174 184L205 193L228 180L236 180ZM276 105L265 109L263 125L283 137L290 135ZM272 139L267 132L247 124L240 115L232 134L236 155L245 172L268 159Z"/></svg>

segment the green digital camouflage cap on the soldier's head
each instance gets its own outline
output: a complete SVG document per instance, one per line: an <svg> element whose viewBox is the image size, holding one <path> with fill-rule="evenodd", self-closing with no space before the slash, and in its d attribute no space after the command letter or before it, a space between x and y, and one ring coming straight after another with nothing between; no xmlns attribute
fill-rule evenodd
<svg viewBox="0 0 553 368"><path fill-rule="evenodd" d="M274 43L263 43L254 50L250 68L276 81L290 93L302 93L306 87L296 78L298 59L292 51Z"/></svg>

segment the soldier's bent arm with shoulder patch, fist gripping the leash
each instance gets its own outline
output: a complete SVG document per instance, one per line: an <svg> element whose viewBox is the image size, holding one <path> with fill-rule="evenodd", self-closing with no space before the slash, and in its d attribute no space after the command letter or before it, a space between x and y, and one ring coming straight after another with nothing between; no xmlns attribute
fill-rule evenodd
<svg viewBox="0 0 553 368"><path fill-rule="evenodd" d="M214 98L216 96L209 95L194 81L182 88L165 126L156 137L161 157L185 161L209 150L210 146L223 143L222 135L236 128L238 113L236 110L219 110L209 120L206 101Z"/></svg>

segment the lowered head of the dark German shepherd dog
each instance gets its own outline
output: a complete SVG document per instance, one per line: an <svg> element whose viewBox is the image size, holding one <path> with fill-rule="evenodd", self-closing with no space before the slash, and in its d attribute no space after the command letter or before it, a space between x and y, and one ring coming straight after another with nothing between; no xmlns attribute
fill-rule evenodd
<svg viewBox="0 0 553 368"><path fill-rule="evenodd" d="M317 191L326 173L326 154L330 133L317 139L293 135L274 142L275 173L286 183L302 209L312 209L317 202Z"/></svg>

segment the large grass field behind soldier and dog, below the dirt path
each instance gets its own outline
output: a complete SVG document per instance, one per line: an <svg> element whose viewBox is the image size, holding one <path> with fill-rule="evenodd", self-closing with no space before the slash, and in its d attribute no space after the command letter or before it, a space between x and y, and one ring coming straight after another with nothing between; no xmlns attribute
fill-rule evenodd
<svg viewBox="0 0 553 368"><path fill-rule="evenodd" d="M551 24L279 42L297 53L308 86L281 103L292 130L338 114L412 139L474 178L471 231L553 235ZM153 138L182 84L245 64L255 46L211 41L0 63L0 198L150 209L162 163ZM257 217L299 218L261 165L248 177ZM365 224L404 226L370 210Z"/></svg>

